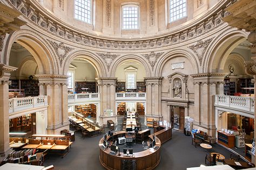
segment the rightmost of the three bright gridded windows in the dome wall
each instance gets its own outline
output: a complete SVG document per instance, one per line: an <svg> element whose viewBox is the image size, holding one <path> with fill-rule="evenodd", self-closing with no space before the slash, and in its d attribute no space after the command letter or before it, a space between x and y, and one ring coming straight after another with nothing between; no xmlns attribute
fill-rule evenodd
<svg viewBox="0 0 256 170"><path fill-rule="evenodd" d="M187 16L186 0L170 0L170 22Z"/></svg>

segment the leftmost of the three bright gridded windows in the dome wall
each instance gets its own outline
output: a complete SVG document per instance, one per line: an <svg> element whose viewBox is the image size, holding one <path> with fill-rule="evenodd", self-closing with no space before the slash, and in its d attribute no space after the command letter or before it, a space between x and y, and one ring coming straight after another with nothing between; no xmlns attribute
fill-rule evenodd
<svg viewBox="0 0 256 170"><path fill-rule="evenodd" d="M91 24L91 0L75 0L75 19Z"/></svg>

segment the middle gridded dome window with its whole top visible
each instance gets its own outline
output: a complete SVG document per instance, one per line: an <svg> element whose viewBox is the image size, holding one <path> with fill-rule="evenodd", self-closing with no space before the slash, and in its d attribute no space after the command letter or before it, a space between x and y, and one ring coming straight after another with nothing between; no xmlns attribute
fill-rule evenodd
<svg viewBox="0 0 256 170"><path fill-rule="evenodd" d="M123 30L139 29L139 6L138 5L122 6L122 29Z"/></svg>

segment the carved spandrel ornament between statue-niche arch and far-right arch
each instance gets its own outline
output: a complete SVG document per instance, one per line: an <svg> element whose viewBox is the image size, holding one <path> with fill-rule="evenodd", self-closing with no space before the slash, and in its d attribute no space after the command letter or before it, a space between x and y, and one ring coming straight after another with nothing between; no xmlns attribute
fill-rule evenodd
<svg viewBox="0 0 256 170"><path fill-rule="evenodd" d="M208 47L208 45L210 44L210 42L212 41L212 39L213 38L210 38L210 39L207 39L205 41L199 40L199 41L197 41L196 45L192 45L192 46L188 47L188 48L192 49L194 53L197 54L198 60L200 62L200 66L201 66L201 63L202 63L203 58L204 58L205 50Z"/></svg>

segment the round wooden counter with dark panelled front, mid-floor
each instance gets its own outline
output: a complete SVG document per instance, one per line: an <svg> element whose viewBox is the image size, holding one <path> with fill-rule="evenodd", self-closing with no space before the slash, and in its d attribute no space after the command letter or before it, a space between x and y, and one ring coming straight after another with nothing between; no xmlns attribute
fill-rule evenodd
<svg viewBox="0 0 256 170"><path fill-rule="evenodd" d="M125 135L125 131L119 131L113 134L113 137L120 137ZM106 140L110 141L113 137L107 137ZM152 137L149 136L152 140ZM122 169L123 160L135 160L136 161L136 169L153 169L160 162L160 146L161 142L156 137L156 146L159 146L157 150L153 148L149 148L147 150L133 153L134 157L126 157L126 154L120 152L120 155L111 155L110 148L103 149L103 141L104 139L100 139L99 141L99 161L106 169ZM143 146L142 146L143 147Z"/></svg>

